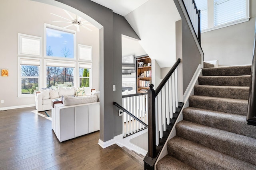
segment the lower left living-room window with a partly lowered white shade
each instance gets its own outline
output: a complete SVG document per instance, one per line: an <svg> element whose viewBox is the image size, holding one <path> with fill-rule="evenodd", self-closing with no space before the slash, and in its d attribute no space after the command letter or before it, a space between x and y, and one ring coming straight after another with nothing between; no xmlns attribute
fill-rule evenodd
<svg viewBox="0 0 256 170"><path fill-rule="evenodd" d="M39 88L40 59L19 57L19 97L32 96Z"/></svg>

